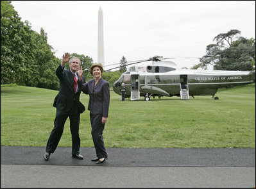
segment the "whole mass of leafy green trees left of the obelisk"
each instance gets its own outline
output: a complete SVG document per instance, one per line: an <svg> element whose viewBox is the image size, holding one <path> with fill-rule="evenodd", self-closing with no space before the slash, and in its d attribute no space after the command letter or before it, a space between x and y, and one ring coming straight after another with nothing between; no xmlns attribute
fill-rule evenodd
<svg viewBox="0 0 256 189"><path fill-rule="evenodd" d="M58 89L55 69L61 60L53 50L43 28L40 34L33 31L30 22L21 21L11 1L1 1L1 84ZM71 55L80 58L83 68L90 67L88 56Z"/></svg>

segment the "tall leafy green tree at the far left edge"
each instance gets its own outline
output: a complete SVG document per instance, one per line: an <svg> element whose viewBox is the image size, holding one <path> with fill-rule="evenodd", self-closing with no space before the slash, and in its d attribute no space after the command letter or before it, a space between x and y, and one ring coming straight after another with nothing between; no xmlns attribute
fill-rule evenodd
<svg viewBox="0 0 256 189"><path fill-rule="evenodd" d="M30 51L29 30L10 1L1 1L1 83L23 83L31 72L26 66L31 57L24 56Z"/></svg>

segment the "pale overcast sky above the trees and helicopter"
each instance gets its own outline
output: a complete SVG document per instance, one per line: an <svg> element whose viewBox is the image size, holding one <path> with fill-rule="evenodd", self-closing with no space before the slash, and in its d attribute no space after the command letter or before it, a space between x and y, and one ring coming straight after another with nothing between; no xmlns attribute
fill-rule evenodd
<svg viewBox="0 0 256 189"><path fill-rule="evenodd" d="M255 38L255 1L12 1L22 21L47 33L55 56L98 59L98 11L103 10L105 65L153 56L201 57L230 29ZM191 68L197 59L173 59ZM109 68L109 67L107 67Z"/></svg>

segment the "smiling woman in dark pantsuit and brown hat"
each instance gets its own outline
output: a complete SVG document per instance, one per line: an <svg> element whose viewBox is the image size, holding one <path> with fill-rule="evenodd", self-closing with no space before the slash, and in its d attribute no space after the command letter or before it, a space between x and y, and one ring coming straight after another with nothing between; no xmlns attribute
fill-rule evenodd
<svg viewBox="0 0 256 189"><path fill-rule="evenodd" d="M108 158L104 145L103 130L108 117L110 103L110 90L108 82L101 78L103 66L100 63L93 63L90 67L90 74L94 77L83 84L81 90L90 95L88 110L90 110L90 124L92 126L92 140L96 150L96 158L92 161L103 163Z"/></svg>

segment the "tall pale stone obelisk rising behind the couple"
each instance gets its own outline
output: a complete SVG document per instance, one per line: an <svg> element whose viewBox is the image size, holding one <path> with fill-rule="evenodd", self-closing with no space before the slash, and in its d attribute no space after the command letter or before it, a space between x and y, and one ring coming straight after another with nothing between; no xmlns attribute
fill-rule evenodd
<svg viewBox="0 0 256 189"><path fill-rule="evenodd" d="M103 35L103 12L101 6L98 12L98 63L101 63L104 67L104 35Z"/></svg>

